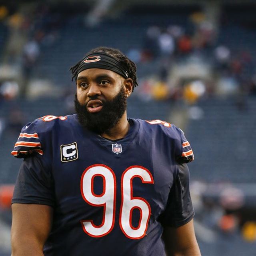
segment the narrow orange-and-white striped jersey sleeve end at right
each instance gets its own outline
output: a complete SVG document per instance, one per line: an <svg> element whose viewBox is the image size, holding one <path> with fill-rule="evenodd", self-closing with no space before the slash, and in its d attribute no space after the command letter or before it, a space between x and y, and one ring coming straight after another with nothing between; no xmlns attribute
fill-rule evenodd
<svg viewBox="0 0 256 256"><path fill-rule="evenodd" d="M176 160L179 164L184 164L184 163L188 163L194 160L194 153L193 150L190 146L190 143L188 142L188 140L185 137L184 132L177 128L180 132L180 148L181 148L181 152L179 152L179 154L176 156Z"/></svg>

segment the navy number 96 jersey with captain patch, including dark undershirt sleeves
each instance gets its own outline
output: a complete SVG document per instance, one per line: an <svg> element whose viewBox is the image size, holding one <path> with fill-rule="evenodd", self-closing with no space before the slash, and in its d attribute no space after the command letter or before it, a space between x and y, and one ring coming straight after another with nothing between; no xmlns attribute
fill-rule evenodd
<svg viewBox="0 0 256 256"><path fill-rule="evenodd" d="M194 156L183 132L160 120L128 121L116 141L86 130L75 114L22 129L12 203L54 208L46 256L164 256L164 226L193 218L184 164Z"/></svg>

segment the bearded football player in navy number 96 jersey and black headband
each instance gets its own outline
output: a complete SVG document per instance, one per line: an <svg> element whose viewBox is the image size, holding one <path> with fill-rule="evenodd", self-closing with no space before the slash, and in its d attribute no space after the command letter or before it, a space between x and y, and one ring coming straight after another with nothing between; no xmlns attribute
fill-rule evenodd
<svg viewBox="0 0 256 256"><path fill-rule="evenodd" d="M76 114L27 124L12 151L12 256L199 256L183 132L127 118L136 66L119 50L71 71Z"/></svg>

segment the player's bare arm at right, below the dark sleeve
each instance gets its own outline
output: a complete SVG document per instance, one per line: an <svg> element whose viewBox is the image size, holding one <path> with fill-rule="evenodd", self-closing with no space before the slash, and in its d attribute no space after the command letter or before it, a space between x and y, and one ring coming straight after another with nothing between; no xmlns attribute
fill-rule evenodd
<svg viewBox="0 0 256 256"><path fill-rule="evenodd" d="M193 220L178 228L165 227L163 239L168 256L201 256Z"/></svg>

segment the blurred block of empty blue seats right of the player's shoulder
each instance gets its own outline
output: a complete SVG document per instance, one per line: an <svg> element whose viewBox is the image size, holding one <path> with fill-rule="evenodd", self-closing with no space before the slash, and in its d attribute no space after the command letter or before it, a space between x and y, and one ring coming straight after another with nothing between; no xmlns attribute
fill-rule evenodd
<svg viewBox="0 0 256 256"><path fill-rule="evenodd" d="M206 182L256 182L255 152L256 101L248 99L239 110L234 98L201 101L201 120L191 120L186 135L196 161L190 165L193 179Z"/></svg>

